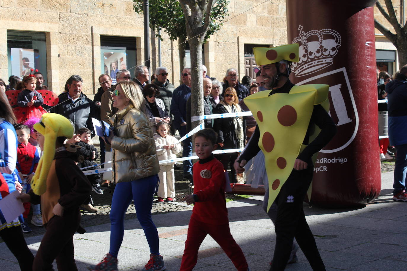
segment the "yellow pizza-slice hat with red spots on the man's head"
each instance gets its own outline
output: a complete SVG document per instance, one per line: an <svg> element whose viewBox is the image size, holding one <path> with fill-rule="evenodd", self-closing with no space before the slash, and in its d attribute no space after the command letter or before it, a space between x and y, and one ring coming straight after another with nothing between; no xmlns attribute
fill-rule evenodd
<svg viewBox="0 0 407 271"><path fill-rule="evenodd" d="M273 48L253 48L257 66L276 63L281 60L298 62L298 43L280 45Z"/></svg>

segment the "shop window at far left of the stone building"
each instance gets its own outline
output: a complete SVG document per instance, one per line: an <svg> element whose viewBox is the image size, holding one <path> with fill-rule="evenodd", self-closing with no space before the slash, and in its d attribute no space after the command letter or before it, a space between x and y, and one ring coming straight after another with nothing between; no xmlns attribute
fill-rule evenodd
<svg viewBox="0 0 407 271"><path fill-rule="evenodd" d="M7 30L9 76L23 78L37 69L47 80L47 55L44 32ZM7 79L7 78L5 78Z"/></svg>

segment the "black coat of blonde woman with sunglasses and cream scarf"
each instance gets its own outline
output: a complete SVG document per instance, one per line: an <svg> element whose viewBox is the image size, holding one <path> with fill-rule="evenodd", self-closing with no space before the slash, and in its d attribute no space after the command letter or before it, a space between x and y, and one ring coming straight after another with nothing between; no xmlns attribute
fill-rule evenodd
<svg viewBox="0 0 407 271"><path fill-rule="evenodd" d="M236 106L236 105L235 105ZM237 105L239 106L239 105ZM236 111L232 111L236 112ZM224 114L229 113L225 106L221 103L217 104L214 114ZM235 149L239 147L238 140L237 140L237 133L236 127L233 124L233 118L221 118L221 119L214 119L214 130L218 133L218 142L223 142L224 149ZM246 139L246 121L243 119L243 140ZM243 142L244 145L244 142ZM218 146L218 149L222 149Z"/></svg>

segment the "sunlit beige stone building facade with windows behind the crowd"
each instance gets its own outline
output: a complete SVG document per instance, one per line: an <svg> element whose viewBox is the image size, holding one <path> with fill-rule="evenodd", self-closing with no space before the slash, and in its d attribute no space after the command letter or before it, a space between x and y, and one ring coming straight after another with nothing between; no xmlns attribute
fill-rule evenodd
<svg viewBox="0 0 407 271"><path fill-rule="evenodd" d="M253 74L252 47L287 43L284 0L230 0L228 9L227 22L204 44L208 74L220 81L230 67L238 70L239 78ZM376 8L375 14L380 16ZM379 31L376 34L377 48L395 50ZM161 65L168 68L170 82L178 86L177 41L165 33L163 37ZM158 42L151 41L154 56ZM143 15L134 12L131 0L0 2L0 78L6 82L10 75L21 76L24 69L33 67L56 93L63 91L70 75L79 74L83 91L92 95L98 76L112 72L114 65L120 69L122 62L127 68L144 62ZM393 69L396 64L395 59ZM158 58L151 61L151 67L158 67Z"/></svg>

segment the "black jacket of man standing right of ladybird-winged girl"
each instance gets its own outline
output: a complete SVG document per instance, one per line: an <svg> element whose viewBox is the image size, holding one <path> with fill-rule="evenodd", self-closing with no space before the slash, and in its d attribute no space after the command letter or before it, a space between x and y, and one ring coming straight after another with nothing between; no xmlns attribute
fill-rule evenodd
<svg viewBox="0 0 407 271"><path fill-rule="evenodd" d="M94 102L81 93L79 98L73 102L68 98L68 93L61 93L58 104L51 109L52 113L63 115L74 124L75 133L79 128L86 127L93 131L92 117L96 112Z"/></svg>

